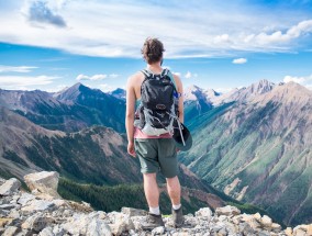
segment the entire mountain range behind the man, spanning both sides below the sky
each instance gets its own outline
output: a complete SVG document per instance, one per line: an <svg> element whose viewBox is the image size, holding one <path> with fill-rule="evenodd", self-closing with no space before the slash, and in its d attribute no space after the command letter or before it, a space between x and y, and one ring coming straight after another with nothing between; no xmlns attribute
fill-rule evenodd
<svg viewBox="0 0 312 236"><path fill-rule="evenodd" d="M285 225L311 223L311 114L312 91L293 82L261 80L224 94L187 88L185 116L193 148L179 154L186 210L232 202L260 211L243 201ZM87 201L83 191L92 190L90 203L99 209L107 200L97 192L143 196L138 161L126 154L124 116L122 89L103 93L77 83L56 93L0 90L0 176L22 179L56 170L65 178L63 194ZM134 186L113 187L121 183Z"/></svg>

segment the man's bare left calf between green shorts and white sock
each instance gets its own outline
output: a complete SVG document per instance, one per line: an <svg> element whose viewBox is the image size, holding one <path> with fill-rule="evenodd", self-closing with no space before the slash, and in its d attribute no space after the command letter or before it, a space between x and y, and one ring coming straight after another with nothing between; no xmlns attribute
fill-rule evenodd
<svg viewBox="0 0 312 236"><path fill-rule="evenodd" d="M149 207L159 206L159 189L156 181L156 173L143 173L144 192Z"/></svg>

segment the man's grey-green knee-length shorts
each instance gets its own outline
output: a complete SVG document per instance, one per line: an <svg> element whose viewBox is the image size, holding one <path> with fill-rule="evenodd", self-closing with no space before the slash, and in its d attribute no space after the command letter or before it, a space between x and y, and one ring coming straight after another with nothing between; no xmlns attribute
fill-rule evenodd
<svg viewBox="0 0 312 236"><path fill-rule="evenodd" d="M160 171L165 178L178 175L177 150L172 138L136 138L134 147L142 173Z"/></svg>

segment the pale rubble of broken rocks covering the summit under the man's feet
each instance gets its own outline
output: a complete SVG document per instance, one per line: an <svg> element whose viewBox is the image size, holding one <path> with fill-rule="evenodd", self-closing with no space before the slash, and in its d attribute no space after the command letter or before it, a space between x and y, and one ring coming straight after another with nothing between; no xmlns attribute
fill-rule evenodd
<svg viewBox="0 0 312 236"><path fill-rule="evenodd" d="M56 172L26 176L31 193L21 190L19 180L0 179L0 235L69 236L69 235L312 235L312 224L282 229L267 215L242 214L235 206L219 207L213 213L203 207L185 215L180 228L171 227L171 216L164 216L165 227L142 229L147 212L123 207L121 212L94 211L88 203L60 199ZM53 183L53 184L52 184ZM45 192L46 191L46 192Z"/></svg>

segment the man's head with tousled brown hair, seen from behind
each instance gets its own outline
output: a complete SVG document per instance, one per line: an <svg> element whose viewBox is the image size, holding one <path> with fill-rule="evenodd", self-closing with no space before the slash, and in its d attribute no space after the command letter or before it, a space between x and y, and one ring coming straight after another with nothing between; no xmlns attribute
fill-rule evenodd
<svg viewBox="0 0 312 236"><path fill-rule="evenodd" d="M163 43L158 38L147 37L141 53L147 64L158 63L163 59L165 52Z"/></svg>

